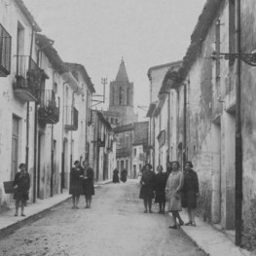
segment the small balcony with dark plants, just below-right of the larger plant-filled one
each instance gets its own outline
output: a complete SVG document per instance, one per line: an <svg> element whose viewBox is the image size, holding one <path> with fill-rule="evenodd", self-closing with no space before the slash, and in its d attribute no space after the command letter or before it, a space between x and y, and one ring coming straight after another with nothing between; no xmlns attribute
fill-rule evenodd
<svg viewBox="0 0 256 256"><path fill-rule="evenodd" d="M40 93L40 106L38 109L39 123L56 124L59 121L59 104L56 104L55 91L43 90Z"/></svg>

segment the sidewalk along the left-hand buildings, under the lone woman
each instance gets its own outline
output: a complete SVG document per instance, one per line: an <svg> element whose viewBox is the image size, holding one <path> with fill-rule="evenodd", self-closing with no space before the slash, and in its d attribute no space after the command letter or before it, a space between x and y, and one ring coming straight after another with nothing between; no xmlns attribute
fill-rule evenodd
<svg viewBox="0 0 256 256"><path fill-rule="evenodd" d="M94 188L98 188L100 185L110 182L112 182L112 180L96 182L94 184ZM70 198L71 196L68 194L68 191L65 191L63 194L55 195L53 198L37 200L36 203L29 203L27 207L25 207L25 217L21 217L20 215L15 217L15 204L11 204L10 210L4 211L0 214L0 238L5 236L8 231L15 230L19 226L36 217L41 217L40 215L44 214L48 210L51 210L51 208L55 207L57 204L67 201Z"/></svg>

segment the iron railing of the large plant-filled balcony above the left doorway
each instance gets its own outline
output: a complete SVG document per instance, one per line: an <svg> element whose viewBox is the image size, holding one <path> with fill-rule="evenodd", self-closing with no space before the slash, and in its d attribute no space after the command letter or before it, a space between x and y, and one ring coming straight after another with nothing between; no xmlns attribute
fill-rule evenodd
<svg viewBox="0 0 256 256"><path fill-rule="evenodd" d="M15 89L29 91L38 98L43 71L30 56L16 55L16 57L17 83Z"/></svg>

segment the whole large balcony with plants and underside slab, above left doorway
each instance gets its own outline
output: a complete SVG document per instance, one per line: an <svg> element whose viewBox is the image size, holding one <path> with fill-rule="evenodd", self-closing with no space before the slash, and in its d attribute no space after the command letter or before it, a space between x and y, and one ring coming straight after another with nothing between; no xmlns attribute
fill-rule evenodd
<svg viewBox="0 0 256 256"><path fill-rule="evenodd" d="M27 55L16 55L17 75L15 94L23 101L38 101L43 71Z"/></svg>

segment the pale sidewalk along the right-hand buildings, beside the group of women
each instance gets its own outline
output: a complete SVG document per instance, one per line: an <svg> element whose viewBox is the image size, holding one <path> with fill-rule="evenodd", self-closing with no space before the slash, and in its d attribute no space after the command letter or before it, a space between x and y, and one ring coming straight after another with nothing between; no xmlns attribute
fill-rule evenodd
<svg viewBox="0 0 256 256"><path fill-rule="evenodd" d="M171 216L171 214L169 213ZM186 211L180 212L180 216L186 223L188 216ZM191 238L207 255L210 256L252 256L251 252L241 249L225 234L196 217L197 227L181 226L184 233Z"/></svg>

